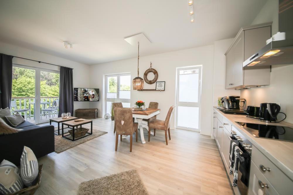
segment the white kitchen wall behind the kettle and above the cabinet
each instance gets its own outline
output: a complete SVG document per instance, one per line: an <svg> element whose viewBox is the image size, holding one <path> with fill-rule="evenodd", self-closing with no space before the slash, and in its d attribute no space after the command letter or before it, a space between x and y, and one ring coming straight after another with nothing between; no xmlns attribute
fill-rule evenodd
<svg viewBox="0 0 293 195"><path fill-rule="evenodd" d="M252 24L273 21L272 34L275 34L278 32L278 8L278 1L269 0ZM285 121L293 123L293 65L272 66L270 85L241 90L241 97L248 100L248 105L259 106L264 102L280 103L281 112L287 114Z"/></svg>

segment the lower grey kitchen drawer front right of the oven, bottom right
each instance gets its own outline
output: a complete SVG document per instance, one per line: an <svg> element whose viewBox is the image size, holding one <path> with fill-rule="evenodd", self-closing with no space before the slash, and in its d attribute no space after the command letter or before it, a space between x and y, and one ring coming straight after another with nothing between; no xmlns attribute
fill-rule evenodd
<svg viewBox="0 0 293 195"><path fill-rule="evenodd" d="M266 186L263 188L260 186L260 182ZM264 190L266 195L278 194L276 189L270 184L270 182L265 178L265 176L260 172L258 167L251 162L250 165L250 175L249 175L249 185L248 193L251 195L258 195L258 190ZM284 193L281 193L284 194Z"/></svg>

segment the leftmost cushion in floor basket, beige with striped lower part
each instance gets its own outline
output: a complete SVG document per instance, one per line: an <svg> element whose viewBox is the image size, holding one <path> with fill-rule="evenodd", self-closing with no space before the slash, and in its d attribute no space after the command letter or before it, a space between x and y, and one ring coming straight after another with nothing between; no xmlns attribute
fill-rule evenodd
<svg viewBox="0 0 293 195"><path fill-rule="evenodd" d="M23 183L19 175L19 169L8 160L3 160L0 164L0 193L12 194L23 188Z"/></svg>

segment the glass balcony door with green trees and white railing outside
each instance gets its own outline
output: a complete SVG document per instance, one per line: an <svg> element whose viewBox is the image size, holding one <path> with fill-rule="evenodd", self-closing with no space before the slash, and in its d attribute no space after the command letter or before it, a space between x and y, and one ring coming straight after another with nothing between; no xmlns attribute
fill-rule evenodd
<svg viewBox="0 0 293 195"><path fill-rule="evenodd" d="M49 122L58 117L59 71L13 64L11 110L35 124ZM58 102L58 101L57 101Z"/></svg>

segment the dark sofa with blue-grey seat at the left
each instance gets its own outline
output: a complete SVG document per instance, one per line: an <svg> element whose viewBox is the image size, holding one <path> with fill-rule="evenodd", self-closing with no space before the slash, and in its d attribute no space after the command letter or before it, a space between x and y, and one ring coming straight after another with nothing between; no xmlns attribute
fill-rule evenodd
<svg viewBox="0 0 293 195"><path fill-rule="evenodd" d="M54 152L53 125L39 126L25 121L14 128L23 130L0 136L0 162L5 159L20 165L24 146L32 149L37 158Z"/></svg>

